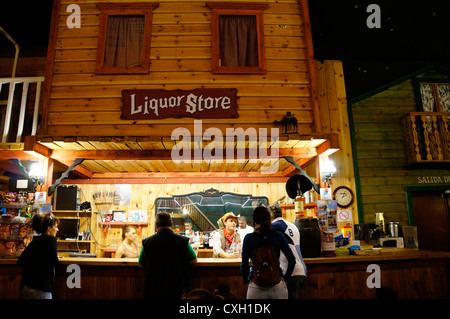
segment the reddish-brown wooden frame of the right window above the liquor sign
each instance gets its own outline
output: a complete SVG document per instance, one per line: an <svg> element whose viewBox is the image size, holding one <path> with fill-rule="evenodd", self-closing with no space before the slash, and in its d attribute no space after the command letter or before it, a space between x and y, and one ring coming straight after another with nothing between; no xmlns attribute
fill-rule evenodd
<svg viewBox="0 0 450 319"><path fill-rule="evenodd" d="M224 74L265 74L266 73L266 49L264 44L263 11L269 4L250 2L206 2L211 9L211 70L212 73ZM223 15L247 15L256 16L258 38L258 66L221 66L220 65L220 37L219 16Z"/></svg>

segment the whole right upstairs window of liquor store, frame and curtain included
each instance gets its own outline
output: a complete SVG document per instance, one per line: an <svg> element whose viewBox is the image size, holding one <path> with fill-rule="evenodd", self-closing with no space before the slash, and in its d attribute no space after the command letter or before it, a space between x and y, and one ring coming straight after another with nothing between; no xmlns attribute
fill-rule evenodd
<svg viewBox="0 0 450 319"><path fill-rule="evenodd" d="M207 2L212 9L212 72L266 72L265 3Z"/></svg>

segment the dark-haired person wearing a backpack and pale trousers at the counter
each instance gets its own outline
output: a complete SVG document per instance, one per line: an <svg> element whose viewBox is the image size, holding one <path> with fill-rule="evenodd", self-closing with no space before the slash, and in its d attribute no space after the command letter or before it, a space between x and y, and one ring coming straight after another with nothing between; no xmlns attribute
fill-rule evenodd
<svg viewBox="0 0 450 319"><path fill-rule="evenodd" d="M253 222L255 230L245 236L242 247L241 276L248 284L247 299L287 299L285 281L292 275L295 257L284 235L272 230L266 207L255 208ZM280 252L288 261L284 274L279 264Z"/></svg>

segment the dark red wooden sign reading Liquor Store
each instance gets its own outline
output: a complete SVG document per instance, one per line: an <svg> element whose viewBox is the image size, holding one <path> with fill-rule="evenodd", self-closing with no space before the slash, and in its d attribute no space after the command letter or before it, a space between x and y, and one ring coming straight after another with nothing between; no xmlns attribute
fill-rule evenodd
<svg viewBox="0 0 450 319"><path fill-rule="evenodd" d="M122 91L123 120L236 118L236 89Z"/></svg>

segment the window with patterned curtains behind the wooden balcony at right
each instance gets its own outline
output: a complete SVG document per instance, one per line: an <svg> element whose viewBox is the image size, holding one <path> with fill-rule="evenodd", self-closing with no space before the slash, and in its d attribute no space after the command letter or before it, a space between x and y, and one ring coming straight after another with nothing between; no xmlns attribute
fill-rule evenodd
<svg viewBox="0 0 450 319"><path fill-rule="evenodd" d="M419 81L419 91L424 112L450 112L450 83Z"/></svg>

